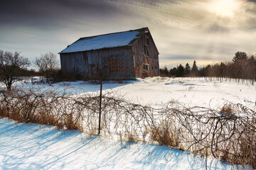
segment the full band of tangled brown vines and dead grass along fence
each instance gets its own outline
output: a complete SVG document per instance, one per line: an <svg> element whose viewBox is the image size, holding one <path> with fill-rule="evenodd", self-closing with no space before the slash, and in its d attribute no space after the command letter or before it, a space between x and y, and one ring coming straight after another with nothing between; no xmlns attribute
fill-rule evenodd
<svg viewBox="0 0 256 170"><path fill-rule="evenodd" d="M83 130L90 135L97 134L98 108L97 94L74 98L65 91L40 89L0 93L1 117ZM101 129L105 136L116 134L127 142L145 141L149 135L159 145L256 168L256 114L240 104L228 103L215 111L169 102L154 109L106 94L102 97Z"/></svg>

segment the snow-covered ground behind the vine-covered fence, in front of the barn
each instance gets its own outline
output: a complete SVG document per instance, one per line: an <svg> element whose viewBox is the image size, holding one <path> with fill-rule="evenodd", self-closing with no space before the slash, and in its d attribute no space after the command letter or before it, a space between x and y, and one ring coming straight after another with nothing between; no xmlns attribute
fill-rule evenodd
<svg viewBox="0 0 256 170"><path fill-rule="evenodd" d="M61 82L51 86L45 84L16 84L16 86L56 88L59 91L68 87L75 94L100 90L100 85L85 81ZM160 108L168 101L214 109L222 108L225 103L232 102L241 103L255 111L256 104L256 85L241 80L238 83L234 79L220 82L218 79L209 81L205 78L154 77L123 81L122 84L117 81L107 81L103 84L103 90L113 91L129 101L154 108Z"/></svg>

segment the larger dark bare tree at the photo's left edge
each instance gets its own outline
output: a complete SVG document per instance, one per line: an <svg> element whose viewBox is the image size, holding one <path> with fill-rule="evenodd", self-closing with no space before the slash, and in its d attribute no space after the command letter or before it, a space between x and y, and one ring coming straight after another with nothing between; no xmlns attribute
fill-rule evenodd
<svg viewBox="0 0 256 170"><path fill-rule="evenodd" d="M21 69L28 67L30 62L21 57L21 52L4 52L0 50L0 82L11 90L11 85L21 76Z"/></svg>

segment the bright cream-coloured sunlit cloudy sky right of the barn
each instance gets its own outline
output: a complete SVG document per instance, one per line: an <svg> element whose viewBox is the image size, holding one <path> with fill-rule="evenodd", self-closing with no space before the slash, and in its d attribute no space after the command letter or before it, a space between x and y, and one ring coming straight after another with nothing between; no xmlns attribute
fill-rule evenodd
<svg viewBox="0 0 256 170"><path fill-rule="evenodd" d="M255 3L245 0L109 1L145 21L160 52L160 65L230 61L237 51L255 52ZM143 5L142 5L143 4ZM251 11L250 11L251 10ZM138 17L138 19L139 19ZM181 62L183 61L183 62ZM208 62L207 62L208 61Z"/></svg>

